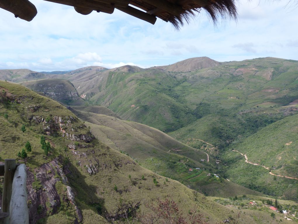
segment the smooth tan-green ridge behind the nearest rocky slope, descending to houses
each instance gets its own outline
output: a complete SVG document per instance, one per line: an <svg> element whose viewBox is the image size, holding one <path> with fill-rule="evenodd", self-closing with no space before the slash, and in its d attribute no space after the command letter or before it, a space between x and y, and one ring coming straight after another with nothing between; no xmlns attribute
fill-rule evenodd
<svg viewBox="0 0 298 224"><path fill-rule="evenodd" d="M75 113L85 121L91 122L85 122L85 124L91 127L92 133L98 139L109 147L130 155L143 167L160 175L177 179L209 195L230 197L234 194L258 194L224 179L207 177L211 171L188 171L189 168L195 167L213 170L211 165L213 160L211 159L210 163L205 161L203 164L196 162L201 158L206 160L206 154L181 144L155 128L105 115L82 111L75 111ZM212 176L213 172L211 172Z"/></svg>

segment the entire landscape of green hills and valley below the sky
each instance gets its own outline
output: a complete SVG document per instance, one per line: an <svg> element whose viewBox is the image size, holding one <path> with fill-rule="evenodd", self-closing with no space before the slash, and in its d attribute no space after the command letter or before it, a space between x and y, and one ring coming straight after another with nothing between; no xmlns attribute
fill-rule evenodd
<svg viewBox="0 0 298 224"><path fill-rule="evenodd" d="M168 193L208 223L236 214L239 223L298 222L298 61L201 57L147 69L0 70L0 79L1 159L25 139L35 149L20 158L32 172L30 211L42 206L32 223L93 223L104 216L98 206L113 213L119 197L145 211L145 199ZM41 133L53 148L46 156ZM271 199L291 213L272 218Z"/></svg>

